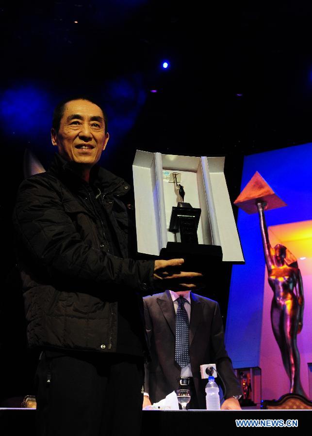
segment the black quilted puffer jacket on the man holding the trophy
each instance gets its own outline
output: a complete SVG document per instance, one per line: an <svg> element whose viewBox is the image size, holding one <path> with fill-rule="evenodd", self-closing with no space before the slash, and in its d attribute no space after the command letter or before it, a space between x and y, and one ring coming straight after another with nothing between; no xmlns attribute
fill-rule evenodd
<svg viewBox="0 0 312 436"><path fill-rule="evenodd" d="M135 301L129 322L140 319L144 336L141 292L154 262L131 259L129 188L98 166L87 184L59 155L21 184L13 220L30 347L115 352L123 296Z"/></svg>

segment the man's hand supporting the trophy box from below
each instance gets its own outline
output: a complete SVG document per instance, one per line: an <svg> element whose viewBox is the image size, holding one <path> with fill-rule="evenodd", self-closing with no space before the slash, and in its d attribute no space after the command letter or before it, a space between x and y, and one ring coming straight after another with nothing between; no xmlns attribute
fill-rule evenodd
<svg viewBox="0 0 312 436"><path fill-rule="evenodd" d="M203 275L198 272L181 271L184 259L170 259L155 261L154 280L164 289L178 291L198 288Z"/></svg>

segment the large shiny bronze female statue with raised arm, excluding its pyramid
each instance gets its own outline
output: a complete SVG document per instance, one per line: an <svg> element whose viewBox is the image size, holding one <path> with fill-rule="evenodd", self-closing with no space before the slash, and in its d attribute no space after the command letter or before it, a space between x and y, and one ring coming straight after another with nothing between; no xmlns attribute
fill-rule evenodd
<svg viewBox="0 0 312 436"><path fill-rule="evenodd" d="M296 257L283 245L271 247L264 218L265 202L257 202L269 285L274 293L271 324L283 365L290 379L290 392L306 396L300 382L297 334L302 330L303 287Z"/></svg>

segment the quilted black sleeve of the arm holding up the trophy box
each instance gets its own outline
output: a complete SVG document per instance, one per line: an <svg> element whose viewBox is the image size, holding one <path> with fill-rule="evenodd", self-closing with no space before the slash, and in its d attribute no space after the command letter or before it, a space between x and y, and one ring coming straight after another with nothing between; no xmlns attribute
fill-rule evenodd
<svg viewBox="0 0 312 436"><path fill-rule="evenodd" d="M152 287L154 262L121 259L85 244L44 177L33 176L21 184L13 223L23 248L52 279L62 274L145 292Z"/></svg>

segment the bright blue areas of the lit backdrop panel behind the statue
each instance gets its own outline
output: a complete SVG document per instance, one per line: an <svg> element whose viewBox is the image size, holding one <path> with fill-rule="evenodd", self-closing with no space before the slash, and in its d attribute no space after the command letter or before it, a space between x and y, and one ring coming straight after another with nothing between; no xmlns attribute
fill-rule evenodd
<svg viewBox="0 0 312 436"><path fill-rule="evenodd" d="M246 156L241 190L256 171L287 203L265 213L268 227L312 219L312 143ZM246 264L232 269L226 346L245 368L260 366L265 263L258 215L239 210L237 226Z"/></svg>

